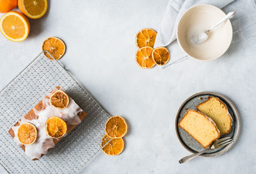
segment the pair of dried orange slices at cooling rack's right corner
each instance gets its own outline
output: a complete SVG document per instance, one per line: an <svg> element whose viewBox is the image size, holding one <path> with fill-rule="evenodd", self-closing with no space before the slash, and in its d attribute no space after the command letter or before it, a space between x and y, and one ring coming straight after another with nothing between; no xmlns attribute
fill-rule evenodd
<svg viewBox="0 0 256 174"><path fill-rule="evenodd" d="M112 116L105 125L106 134L103 136L102 151L107 155L119 155L124 150L124 139L127 124L121 116Z"/></svg>

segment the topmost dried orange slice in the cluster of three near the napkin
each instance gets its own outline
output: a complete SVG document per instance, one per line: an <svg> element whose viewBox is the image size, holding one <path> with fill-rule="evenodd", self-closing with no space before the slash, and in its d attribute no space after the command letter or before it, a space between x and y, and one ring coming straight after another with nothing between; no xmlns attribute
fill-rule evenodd
<svg viewBox="0 0 256 174"><path fill-rule="evenodd" d="M141 29L136 35L136 45L140 49L142 47L154 47L156 40L156 31L150 28Z"/></svg>

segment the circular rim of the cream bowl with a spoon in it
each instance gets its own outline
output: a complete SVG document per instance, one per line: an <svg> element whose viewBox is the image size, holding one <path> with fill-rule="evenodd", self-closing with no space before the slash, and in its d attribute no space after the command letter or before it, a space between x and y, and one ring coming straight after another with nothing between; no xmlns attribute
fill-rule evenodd
<svg viewBox="0 0 256 174"><path fill-rule="evenodd" d="M233 39L233 28L232 28L232 24L231 24L231 22L230 22L230 19L228 19L227 22L228 22L228 24L230 25L232 35L231 35L230 42L228 43L228 47L227 47L226 51L224 51L220 56L217 56L216 58L212 58L212 59L199 59L199 58L195 58L195 57L191 56L190 54L188 54L188 52L186 52L186 51L183 49L182 45L180 44L179 35L178 35L178 33L179 33L178 28L179 28L180 20L182 19L182 17L184 17L184 15L185 15L189 10L191 10L192 8L196 8L196 7L198 7L198 6L211 6L212 8L216 8L216 9L220 10L221 13L224 13L224 14L226 15L226 13L223 12L223 10L221 10L220 8L218 8L218 7L214 6L214 5L211 5L211 4L198 4L198 5L195 5L195 6L191 6L188 10L186 10L186 12L184 12L184 13L181 15L181 17L180 17L180 19L179 19L179 22L177 23L177 26L176 26L177 42L179 43L179 47L182 49L182 51L184 51L184 52L187 54L187 56L189 56L190 58L193 58L193 59L196 59L196 60L200 60L200 61L212 61L212 60L214 60L214 59L220 58L225 52L227 52L228 48L230 47L231 42L232 42L232 39Z"/></svg>

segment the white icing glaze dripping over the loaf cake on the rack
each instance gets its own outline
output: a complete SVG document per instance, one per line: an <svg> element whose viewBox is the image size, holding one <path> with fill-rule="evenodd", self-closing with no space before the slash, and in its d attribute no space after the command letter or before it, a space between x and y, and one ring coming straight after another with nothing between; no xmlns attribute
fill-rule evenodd
<svg viewBox="0 0 256 174"><path fill-rule="evenodd" d="M58 91L58 89L54 89L52 93L54 93L55 91ZM49 93L47 97L51 97L52 93ZM65 107L65 109L57 109L51 106L50 100L47 97L42 100L45 109L42 109L42 111L38 111L35 109L35 107L33 107L33 111L35 112L35 115L38 116L38 119L27 120L23 117L19 121L19 124L22 124L24 122L33 123L38 131L35 143L25 146L26 155L28 155L31 159L40 159L41 154L46 154L49 148L55 146L53 139L47 136L45 132L45 123L48 118L50 118L51 116L58 116L62 118L67 123L67 125L77 125L81 123L81 120L77 114L83 110L76 104L76 102L74 102L73 99L69 99L68 106ZM17 138L17 131L19 129L19 125L13 126L12 129L15 134L15 141L19 145L21 145L19 139Z"/></svg>

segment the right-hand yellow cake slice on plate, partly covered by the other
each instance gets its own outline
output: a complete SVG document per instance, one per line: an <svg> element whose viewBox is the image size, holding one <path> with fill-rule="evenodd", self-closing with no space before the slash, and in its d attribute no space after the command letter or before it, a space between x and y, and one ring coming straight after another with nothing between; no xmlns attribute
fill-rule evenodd
<svg viewBox="0 0 256 174"><path fill-rule="evenodd" d="M217 125L220 134L228 134L232 126L232 117L228 113L227 106L217 97L209 97L208 100L196 106L198 111L209 116Z"/></svg>

